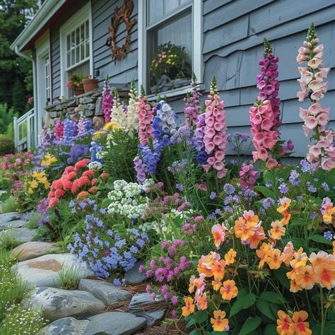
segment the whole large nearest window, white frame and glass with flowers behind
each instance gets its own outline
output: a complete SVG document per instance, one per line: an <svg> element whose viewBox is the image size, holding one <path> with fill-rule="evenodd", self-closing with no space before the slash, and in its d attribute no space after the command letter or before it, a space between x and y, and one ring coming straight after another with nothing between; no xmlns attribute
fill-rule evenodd
<svg viewBox="0 0 335 335"><path fill-rule="evenodd" d="M139 1L139 82L148 95L189 90L202 79L201 0Z"/></svg>

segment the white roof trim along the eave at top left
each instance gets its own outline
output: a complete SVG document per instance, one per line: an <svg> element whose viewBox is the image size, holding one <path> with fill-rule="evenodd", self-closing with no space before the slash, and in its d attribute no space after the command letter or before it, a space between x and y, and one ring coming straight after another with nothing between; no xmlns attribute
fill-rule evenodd
<svg viewBox="0 0 335 335"><path fill-rule="evenodd" d="M11 49L21 50L33 37L39 33L40 29L49 21L50 18L56 13L66 0L47 0L37 11L33 20L28 23L24 30L18 35L16 40L11 45Z"/></svg>

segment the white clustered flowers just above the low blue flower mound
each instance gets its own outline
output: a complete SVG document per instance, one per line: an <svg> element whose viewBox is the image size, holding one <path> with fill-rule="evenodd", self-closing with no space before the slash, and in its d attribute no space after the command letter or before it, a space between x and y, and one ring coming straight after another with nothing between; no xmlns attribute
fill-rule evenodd
<svg viewBox="0 0 335 335"><path fill-rule="evenodd" d="M114 190L108 194L113 202L108 206L108 213L119 214L127 218L139 218L148 208L148 199L141 196L143 186L135 182L116 180Z"/></svg>

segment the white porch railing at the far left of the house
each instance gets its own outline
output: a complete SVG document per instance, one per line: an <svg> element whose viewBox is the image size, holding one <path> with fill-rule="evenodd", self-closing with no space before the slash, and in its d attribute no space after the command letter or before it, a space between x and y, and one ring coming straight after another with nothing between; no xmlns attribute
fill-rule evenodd
<svg viewBox="0 0 335 335"><path fill-rule="evenodd" d="M14 117L13 122L16 151L29 150L35 146L34 109L22 117Z"/></svg>

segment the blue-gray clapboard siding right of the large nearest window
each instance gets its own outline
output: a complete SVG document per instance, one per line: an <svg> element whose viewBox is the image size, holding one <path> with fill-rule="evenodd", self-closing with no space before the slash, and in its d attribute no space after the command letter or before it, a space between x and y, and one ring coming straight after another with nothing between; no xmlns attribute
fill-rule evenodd
<svg viewBox="0 0 335 335"><path fill-rule="evenodd" d="M258 60L263 53L263 38L271 41L279 57L281 84L282 139L292 139L296 157L302 157L310 144L302 132L298 102L298 64L295 57L305 40L307 27L314 22L324 43L324 66L331 67L329 92L322 100L331 107L331 124L335 125L335 4L334 0L206 0L204 16L204 83L216 74L221 98L225 100L228 132L249 133L249 106L254 103L259 73Z"/></svg>

